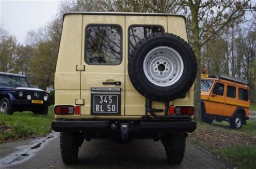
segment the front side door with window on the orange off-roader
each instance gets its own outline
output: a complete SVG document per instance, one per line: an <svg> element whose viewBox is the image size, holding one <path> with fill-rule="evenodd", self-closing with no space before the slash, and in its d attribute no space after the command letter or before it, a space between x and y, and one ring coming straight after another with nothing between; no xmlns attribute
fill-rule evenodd
<svg viewBox="0 0 256 169"><path fill-rule="evenodd" d="M223 115L225 97L224 97L224 84L216 82L213 90L209 96L208 114Z"/></svg>

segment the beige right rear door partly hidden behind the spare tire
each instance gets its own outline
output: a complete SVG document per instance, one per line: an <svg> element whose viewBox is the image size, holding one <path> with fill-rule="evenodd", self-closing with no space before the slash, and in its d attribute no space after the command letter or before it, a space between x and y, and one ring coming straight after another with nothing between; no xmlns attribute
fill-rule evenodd
<svg viewBox="0 0 256 169"><path fill-rule="evenodd" d="M157 21L157 22L156 22ZM136 23L136 25L134 24ZM154 24L152 24L154 23ZM155 24L157 23L157 25ZM167 16L126 16L126 63L134 46L144 37L157 32L167 32ZM131 84L128 75L128 64L126 64L126 115L145 115L145 98ZM163 109L163 102L152 102L152 107ZM161 113L157 113L162 115Z"/></svg>

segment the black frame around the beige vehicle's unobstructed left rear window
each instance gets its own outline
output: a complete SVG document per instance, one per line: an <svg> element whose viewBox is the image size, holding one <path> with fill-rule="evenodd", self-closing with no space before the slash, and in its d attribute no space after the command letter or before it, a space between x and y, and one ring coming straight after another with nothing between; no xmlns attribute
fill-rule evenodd
<svg viewBox="0 0 256 169"><path fill-rule="evenodd" d="M98 27L118 27L120 28L120 62L119 63L90 63L86 60L86 49L87 49L87 28L91 26L98 26ZM123 62L123 28L121 25L118 24L88 24L85 27L85 35L84 35L84 61L87 65L102 65L102 66L117 66L122 64Z"/></svg>

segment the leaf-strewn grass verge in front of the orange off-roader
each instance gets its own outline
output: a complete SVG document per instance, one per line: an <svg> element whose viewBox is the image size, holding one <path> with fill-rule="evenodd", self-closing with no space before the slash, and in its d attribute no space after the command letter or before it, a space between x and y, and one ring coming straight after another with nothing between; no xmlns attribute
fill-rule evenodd
<svg viewBox="0 0 256 169"><path fill-rule="evenodd" d="M256 169L256 123L251 120L239 130L229 128L228 122L197 123L188 139L207 147L235 168Z"/></svg>

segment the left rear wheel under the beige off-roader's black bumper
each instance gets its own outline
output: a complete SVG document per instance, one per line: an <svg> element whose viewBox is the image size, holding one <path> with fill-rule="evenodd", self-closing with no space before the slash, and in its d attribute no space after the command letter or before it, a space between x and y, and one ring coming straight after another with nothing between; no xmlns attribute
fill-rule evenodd
<svg viewBox="0 0 256 169"><path fill-rule="evenodd" d="M74 163L78 158L79 139L77 133L61 132L61 156L66 164Z"/></svg>

